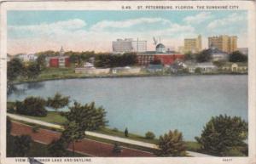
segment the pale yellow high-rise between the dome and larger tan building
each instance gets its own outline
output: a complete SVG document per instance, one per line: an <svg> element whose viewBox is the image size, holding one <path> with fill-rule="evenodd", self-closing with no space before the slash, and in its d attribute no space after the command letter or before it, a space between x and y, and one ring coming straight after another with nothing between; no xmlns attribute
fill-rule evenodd
<svg viewBox="0 0 256 164"><path fill-rule="evenodd" d="M201 35L196 38L185 38L183 53L198 53L201 51Z"/></svg>

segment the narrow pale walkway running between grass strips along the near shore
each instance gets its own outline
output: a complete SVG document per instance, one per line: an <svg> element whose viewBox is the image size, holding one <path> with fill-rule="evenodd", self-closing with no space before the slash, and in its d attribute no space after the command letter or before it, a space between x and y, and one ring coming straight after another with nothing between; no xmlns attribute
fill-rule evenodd
<svg viewBox="0 0 256 164"><path fill-rule="evenodd" d="M60 125L56 125L53 123L49 123L49 122L42 122L42 121L38 121L38 120L34 120L31 118L27 118L24 116L17 116L14 114L7 114L7 116L15 119L15 120L20 120L20 121L24 121L24 122L31 122L31 123L35 123L35 124L39 124L45 127L54 127L54 128L59 128L59 129L63 129L63 127L61 127ZM126 144L136 144L139 146L143 146L146 148L151 148L151 149L158 149L158 146L156 144L149 144L149 143L145 143L142 141L136 141L136 140L132 140L132 139L124 139L124 138L120 138L120 137L115 137L115 136L110 136L110 135L106 135L106 134L102 134L102 133L95 133L95 132L90 132L90 131L86 131L87 135L90 136L94 136L94 137L98 137L98 138L102 138L102 139L109 139L109 140L113 140L113 141L118 141L121 143L126 143ZM192 152L192 151L187 151L189 156L195 156L195 157L212 157L212 156L208 156L205 154L201 154L201 153L196 153L196 152Z"/></svg>

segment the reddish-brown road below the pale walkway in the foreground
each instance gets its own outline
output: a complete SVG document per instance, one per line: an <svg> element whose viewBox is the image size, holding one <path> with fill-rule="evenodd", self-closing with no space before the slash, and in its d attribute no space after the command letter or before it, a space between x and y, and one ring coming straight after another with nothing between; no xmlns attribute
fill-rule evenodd
<svg viewBox="0 0 256 164"><path fill-rule="evenodd" d="M52 140L59 139L61 133L39 128L37 133L32 132L32 127L22 124L20 122L12 122L12 135L30 135L32 140L41 144L50 144ZM68 146L67 150L72 150L72 144ZM122 147L122 151L119 155L112 152L113 144L107 144L97 142L90 139L82 139L75 144L75 152L84 154L85 156L154 156L154 154L142 150L134 150L126 147Z"/></svg>

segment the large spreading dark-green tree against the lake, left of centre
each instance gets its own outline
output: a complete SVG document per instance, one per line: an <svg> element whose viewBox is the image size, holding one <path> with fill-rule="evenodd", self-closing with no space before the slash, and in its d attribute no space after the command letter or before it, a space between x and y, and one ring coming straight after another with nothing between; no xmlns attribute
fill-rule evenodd
<svg viewBox="0 0 256 164"><path fill-rule="evenodd" d="M102 106L96 107L94 102L85 105L74 102L69 111L62 113L62 116L66 116L69 122L78 123L79 127L86 131L106 126L106 113Z"/></svg>

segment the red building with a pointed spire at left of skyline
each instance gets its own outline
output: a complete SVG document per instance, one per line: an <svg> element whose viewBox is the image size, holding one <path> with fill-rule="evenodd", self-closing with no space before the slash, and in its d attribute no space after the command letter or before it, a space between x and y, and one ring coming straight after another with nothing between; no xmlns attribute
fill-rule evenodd
<svg viewBox="0 0 256 164"><path fill-rule="evenodd" d="M61 47L59 56L47 57L46 63L48 67L68 67L69 63L69 56L64 55L64 49Z"/></svg>

